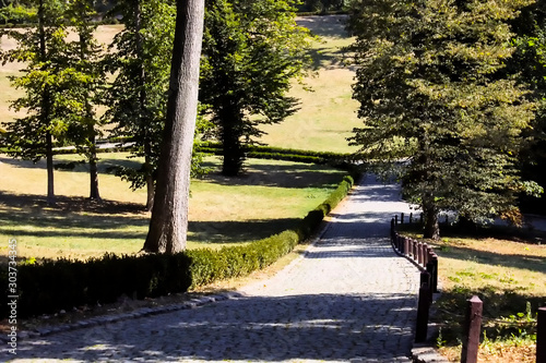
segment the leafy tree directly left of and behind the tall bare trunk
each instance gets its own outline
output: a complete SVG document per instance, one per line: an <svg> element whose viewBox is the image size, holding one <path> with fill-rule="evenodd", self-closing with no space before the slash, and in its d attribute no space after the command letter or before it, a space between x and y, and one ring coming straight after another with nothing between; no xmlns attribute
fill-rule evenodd
<svg viewBox="0 0 546 363"><path fill-rule="evenodd" d="M143 157L140 170L119 168L117 173L133 189L146 185L151 210L157 159L164 128L176 8L162 0L127 0L114 9L124 24L111 45L108 69L116 74L108 95L106 118L115 135L135 143Z"/></svg>

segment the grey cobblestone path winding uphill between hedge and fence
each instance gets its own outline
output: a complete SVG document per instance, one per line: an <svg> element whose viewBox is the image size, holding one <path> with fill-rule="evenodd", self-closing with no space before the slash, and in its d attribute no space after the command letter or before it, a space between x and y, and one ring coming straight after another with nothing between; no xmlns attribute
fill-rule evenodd
<svg viewBox="0 0 546 363"><path fill-rule="evenodd" d="M410 213L396 185L364 178L322 238L232 298L20 342L14 362L411 362L417 268L392 251Z"/></svg>

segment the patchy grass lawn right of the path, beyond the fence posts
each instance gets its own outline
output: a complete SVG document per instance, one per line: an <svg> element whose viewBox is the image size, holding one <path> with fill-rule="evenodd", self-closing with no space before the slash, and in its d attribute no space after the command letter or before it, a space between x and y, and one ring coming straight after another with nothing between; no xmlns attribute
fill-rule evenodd
<svg viewBox="0 0 546 363"><path fill-rule="evenodd" d="M446 235L432 243L442 288L435 316L442 326L441 353L459 362L466 300L478 295L484 301L485 337L478 361L535 362L535 314L546 305L546 233L507 228L479 232L479 238L450 231ZM534 322L527 318L527 302Z"/></svg>

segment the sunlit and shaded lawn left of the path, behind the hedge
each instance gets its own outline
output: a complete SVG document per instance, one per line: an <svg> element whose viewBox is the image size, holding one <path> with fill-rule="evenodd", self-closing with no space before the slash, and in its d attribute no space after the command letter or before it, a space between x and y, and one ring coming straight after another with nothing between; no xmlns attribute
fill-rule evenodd
<svg viewBox="0 0 546 363"><path fill-rule="evenodd" d="M132 192L127 182L105 173L108 166L135 162L126 154L103 154L99 189L105 203L90 204L85 166L56 171L59 205L44 203L46 174L43 162L0 157L0 255L8 240L17 240L22 257L72 257L136 253L147 232L143 211L145 192ZM56 162L78 160L56 157ZM218 167L216 158L207 166ZM190 201L189 249L244 243L290 228L319 205L344 172L298 162L249 160L247 172L226 179L216 171L193 180Z"/></svg>

